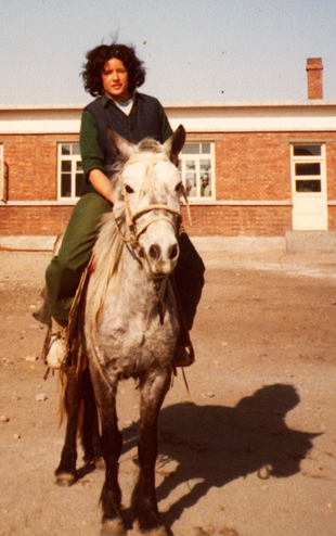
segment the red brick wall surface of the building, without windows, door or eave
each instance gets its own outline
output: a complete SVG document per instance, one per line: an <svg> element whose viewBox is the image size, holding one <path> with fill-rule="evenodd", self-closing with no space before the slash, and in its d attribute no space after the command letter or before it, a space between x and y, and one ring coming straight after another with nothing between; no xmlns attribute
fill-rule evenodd
<svg viewBox="0 0 336 536"><path fill-rule="evenodd" d="M215 140L216 200L290 202L290 142L325 142L328 200L336 200L336 132L189 133ZM57 142L73 135L5 136L9 201L56 201ZM73 207L65 205L0 205L0 235L57 234ZM284 235L292 229L289 205L193 205L194 235ZM183 214L185 210L183 208ZM336 207L328 207L329 230L336 230Z"/></svg>

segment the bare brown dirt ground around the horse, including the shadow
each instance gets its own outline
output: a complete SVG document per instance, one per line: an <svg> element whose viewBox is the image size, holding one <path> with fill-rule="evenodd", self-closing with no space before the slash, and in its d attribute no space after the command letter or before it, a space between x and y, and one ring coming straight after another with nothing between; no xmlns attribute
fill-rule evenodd
<svg viewBox="0 0 336 536"><path fill-rule="evenodd" d="M160 414L163 520L176 536L335 536L336 255L203 256L192 399L179 373ZM103 473L82 471L70 488L54 484L64 438L59 379L43 380L44 328L31 316L49 257L0 252L1 536L100 532ZM133 382L120 385L118 407L130 520Z"/></svg>

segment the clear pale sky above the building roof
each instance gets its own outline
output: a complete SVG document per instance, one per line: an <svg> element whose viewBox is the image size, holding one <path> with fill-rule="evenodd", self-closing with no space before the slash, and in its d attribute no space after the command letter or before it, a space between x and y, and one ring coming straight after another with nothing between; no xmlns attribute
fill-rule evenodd
<svg viewBox="0 0 336 536"><path fill-rule="evenodd" d="M116 33L163 102L307 99L307 58L336 99L335 0L0 0L0 105L89 102L85 54Z"/></svg>

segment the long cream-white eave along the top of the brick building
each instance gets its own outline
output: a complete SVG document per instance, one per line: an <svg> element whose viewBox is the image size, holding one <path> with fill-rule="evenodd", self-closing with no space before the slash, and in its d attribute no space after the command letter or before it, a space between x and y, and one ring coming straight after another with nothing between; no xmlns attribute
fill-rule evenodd
<svg viewBox="0 0 336 536"><path fill-rule="evenodd" d="M0 135L78 135L86 104L0 106ZM335 131L336 100L164 103L188 132ZM1 140L0 140L1 141Z"/></svg>

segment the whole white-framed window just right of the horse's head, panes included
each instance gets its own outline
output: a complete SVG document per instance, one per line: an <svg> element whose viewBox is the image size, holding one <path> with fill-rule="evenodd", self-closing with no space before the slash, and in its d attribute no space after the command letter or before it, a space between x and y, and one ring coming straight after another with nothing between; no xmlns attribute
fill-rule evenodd
<svg viewBox="0 0 336 536"><path fill-rule="evenodd" d="M214 143L186 142L179 158L179 168L188 197L190 200L214 199Z"/></svg>

